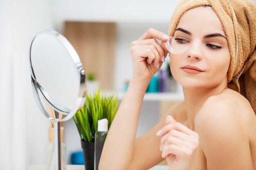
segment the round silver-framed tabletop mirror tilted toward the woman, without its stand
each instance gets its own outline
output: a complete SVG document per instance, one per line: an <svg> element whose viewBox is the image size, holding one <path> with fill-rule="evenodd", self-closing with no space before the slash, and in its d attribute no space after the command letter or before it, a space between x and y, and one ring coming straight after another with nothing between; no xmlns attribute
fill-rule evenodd
<svg viewBox="0 0 256 170"><path fill-rule="evenodd" d="M52 121L66 121L85 102L85 70L73 46L60 33L40 31L29 49L36 103Z"/></svg>

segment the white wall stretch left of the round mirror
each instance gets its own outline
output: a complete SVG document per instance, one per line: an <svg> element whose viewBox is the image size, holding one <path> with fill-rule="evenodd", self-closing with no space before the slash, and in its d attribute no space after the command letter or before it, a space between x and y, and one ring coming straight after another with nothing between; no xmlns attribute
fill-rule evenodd
<svg viewBox="0 0 256 170"><path fill-rule="evenodd" d="M36 32L53 29L49 2L0 1L0 169L43 162L49 121L32 95L29 43Z"/></svg>

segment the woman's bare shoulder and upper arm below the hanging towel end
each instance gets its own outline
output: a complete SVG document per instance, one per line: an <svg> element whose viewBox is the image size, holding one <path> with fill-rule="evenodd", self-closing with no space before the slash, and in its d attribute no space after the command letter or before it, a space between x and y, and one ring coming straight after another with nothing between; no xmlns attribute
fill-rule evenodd
<svg viewBox="0 0 256 170"><path fill-rule="evenodd" d="M256 115L245 97L226 89L207 99L195 117L195 131L207 169L252 169L256 155ZM239 147L238 147L239 146ZM239 160L239 161L238 161Z"/></svg>

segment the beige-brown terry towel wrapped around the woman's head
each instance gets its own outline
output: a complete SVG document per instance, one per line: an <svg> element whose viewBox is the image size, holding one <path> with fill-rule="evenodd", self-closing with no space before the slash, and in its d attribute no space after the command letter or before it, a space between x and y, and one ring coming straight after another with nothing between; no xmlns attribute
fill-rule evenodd
<svg viewBox="0 0 256 170"><path fill-rule="evenodd" d="M183 13L204 5L212 7L225 31L231 54L228 87L245 96L256 113L256 3L249 0L181 0L173 12L169 35L173 36ZM232 8L236 18L233 18ZM237 24L237 41L234 24Z"/></svg>

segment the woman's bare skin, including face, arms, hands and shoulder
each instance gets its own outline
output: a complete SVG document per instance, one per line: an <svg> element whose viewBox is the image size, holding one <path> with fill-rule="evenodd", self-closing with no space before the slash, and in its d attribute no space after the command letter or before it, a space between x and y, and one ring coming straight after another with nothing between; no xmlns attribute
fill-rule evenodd
<svg viewBox="0 0 256 170"><path fill-rule="evenodd" d="M149 29L132 42L133 77L110 127L99 170L147 170L164 159L170 170L256 170L256 115L245 97L227 88L230 53L220 20L211 7L196 7L182 15L177 28L191 33L175 31L174 37L186 40L191 47L185 54L170 55L171 71L182 85L184 101L135 139L146 88L167 54L164 33ZM212 33L224 37L203 38ZM186 64L200 67L203 73L184 73L181 67ZM175 136L178 128L190 135L180 131ZM159 130L162 135L157 136ZM173 140L189 157L170 149ZM192 147L192 140L198 145ZM183 162L179 164L176 158Z"/></svg>

